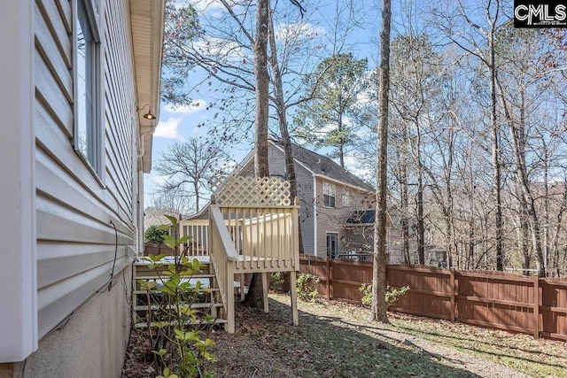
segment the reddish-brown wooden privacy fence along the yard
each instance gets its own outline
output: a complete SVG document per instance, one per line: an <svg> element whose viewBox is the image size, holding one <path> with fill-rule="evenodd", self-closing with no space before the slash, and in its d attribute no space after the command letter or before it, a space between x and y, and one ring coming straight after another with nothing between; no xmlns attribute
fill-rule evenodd
<svg viewBox="0 0 567 378"><path fill-rule="evenodd" d="M301 256L299 264L301 273L319 277L327 299L360 304L361 284L372 282L368 262ZM393 311L567 341L565 279L390 265L386 281L410 288Z"/></svg>

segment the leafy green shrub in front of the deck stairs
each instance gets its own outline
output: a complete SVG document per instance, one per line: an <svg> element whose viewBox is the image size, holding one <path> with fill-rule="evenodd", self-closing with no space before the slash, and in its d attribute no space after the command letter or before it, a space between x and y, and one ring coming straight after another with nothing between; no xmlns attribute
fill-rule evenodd
<svg viewBox="0 0 567 378"><path fill-rule="evenodd" d="M194 274L202 272L197 258L190 260L184 256L181 247L190 239L183 236L175 239L168 235L172 230L175 235L177 220L167 216L168 225L160 225L156 230L164 230L164 243L174 250L174 256L149 255L142 258L148 267L159 277L157 280L138 280L139 288L147 290L148 306L147 328L151 340L151 352L157 378L192 378L212 376L206 372L206 362L214 361L209 348L214 341L209 337L214 326L214 317L210 310L198 310L195 304L203 293L211 290L204 288L201 282L192 282Z"/></svg>

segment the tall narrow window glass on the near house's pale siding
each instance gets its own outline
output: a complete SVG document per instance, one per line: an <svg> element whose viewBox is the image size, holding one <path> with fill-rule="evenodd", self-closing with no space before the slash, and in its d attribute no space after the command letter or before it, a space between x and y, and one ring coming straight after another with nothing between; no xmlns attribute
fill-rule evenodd
<svg viewBox="0 0 567 378"><path fill-rule="evenodd" d="M97 34L96 6L78 0L75 40L74 148L101 174L100 42Z"/></svg>

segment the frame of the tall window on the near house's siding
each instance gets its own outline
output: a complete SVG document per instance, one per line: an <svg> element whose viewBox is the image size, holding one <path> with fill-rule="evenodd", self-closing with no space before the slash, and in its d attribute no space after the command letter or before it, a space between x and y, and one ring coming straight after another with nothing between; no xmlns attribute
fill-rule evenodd
<svg viewBox="0 0 567 378"><path fill-rule="evenodd" d="M74 79L74 136L72 143L75 152L82 158L82 161L89 168L89 171L95 176L97 181L103 185L104 174L104 127L103 127L103 53L101 43L101 30L99 27L99 4L97 0L74 0L73 2L73 49L74 49L74 65L73 65L73 79ZM80 146L80 116L79 116L79 103L81 96L79 90L79 49L78 37L79 27L81 26L82 33L85 32L89 35L91 42L90 58L85 62L85 71L89 77L91 105L87 110L88 104L85 104L85 112L87 115L86 125L86 154Z"/></svg>

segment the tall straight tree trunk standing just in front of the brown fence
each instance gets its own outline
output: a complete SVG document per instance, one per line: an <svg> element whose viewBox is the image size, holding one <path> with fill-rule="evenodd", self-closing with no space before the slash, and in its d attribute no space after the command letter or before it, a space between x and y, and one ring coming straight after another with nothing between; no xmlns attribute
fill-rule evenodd
<svg viewBox="0 0 567 378"><path fill-rule="evenodd" d="M390 27L392 0L384 0L380 33L380 83L378 92L377 206L374 228L371 320L389 323L386 312L386 196L388 192L388 104L390 91Z"/></svg>

